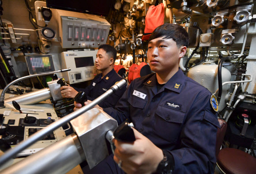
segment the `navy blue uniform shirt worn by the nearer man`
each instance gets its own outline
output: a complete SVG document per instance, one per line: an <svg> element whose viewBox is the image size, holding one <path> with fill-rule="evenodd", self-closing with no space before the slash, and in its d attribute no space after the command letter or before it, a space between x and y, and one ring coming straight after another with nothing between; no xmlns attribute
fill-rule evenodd
<svg viewBox="0 0 256 174"><path fill-rule="evenodd" d="M158 91L156 74L132 81L115 109L104 109L136 130L174 159L174 174L214 173L217 113L211 92L184 76L181 69Z"/></svg>

